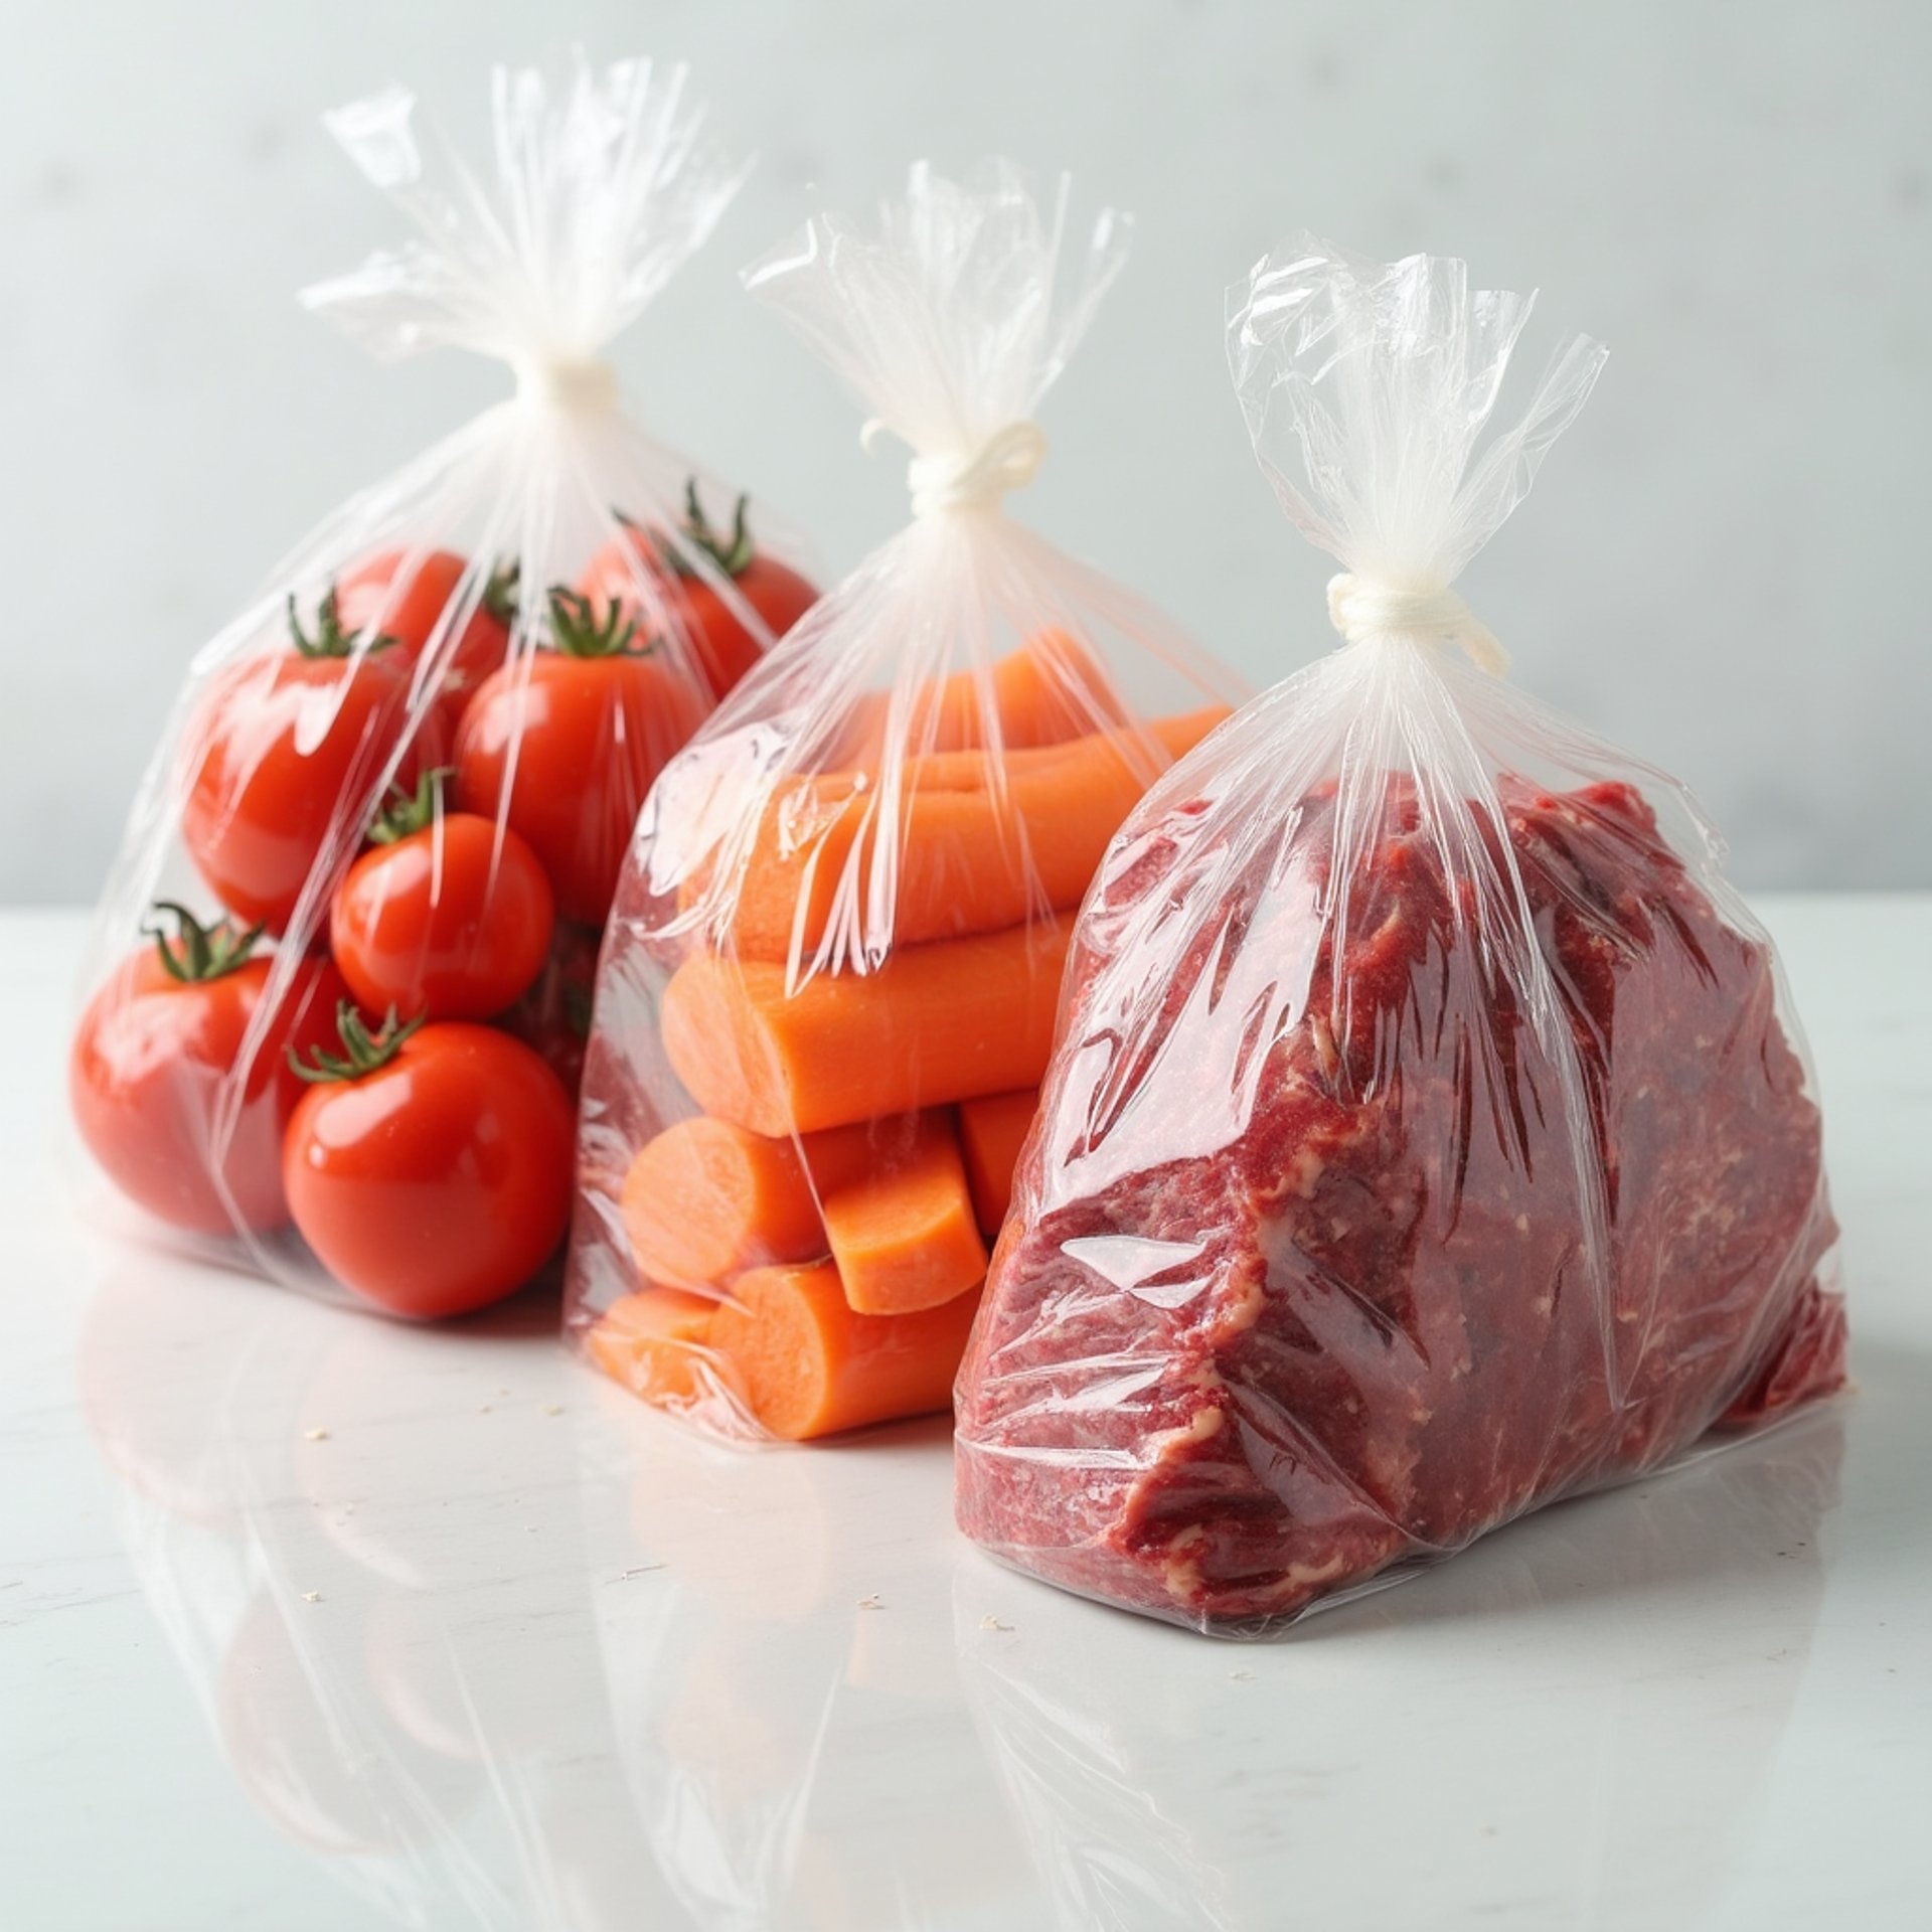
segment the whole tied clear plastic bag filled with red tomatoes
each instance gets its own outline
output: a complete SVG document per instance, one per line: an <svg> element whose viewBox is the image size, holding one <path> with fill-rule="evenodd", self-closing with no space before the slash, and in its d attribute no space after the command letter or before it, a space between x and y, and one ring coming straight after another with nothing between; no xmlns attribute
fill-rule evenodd
<svg viewBox="0 0 1932 1932"><path fill-rule="evenodd" d="M195 659L71 1095L149 1221L433 1318L558 1248L638 810L813 591L605 361L742 178L682 70L498 71L491 174L402 91L327 126L415 240L305 303L516 390L350 498Z"/></svg>

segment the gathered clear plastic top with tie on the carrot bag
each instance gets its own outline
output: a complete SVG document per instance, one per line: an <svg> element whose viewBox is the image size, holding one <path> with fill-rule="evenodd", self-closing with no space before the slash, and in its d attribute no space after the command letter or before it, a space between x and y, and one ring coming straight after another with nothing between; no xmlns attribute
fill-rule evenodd
<svg viewBox="0 0 1932 1932"><path fill-rule="evenodd" d="M817 214L744 272L856 390L879 433L914 452L920 514L980 508L1024 483L1045 452L1032 421L1101 296L1132 222L1101 209L1068 236L1072 184L1034 193L1024 168L987 160L964 182L914 164L877 230Z"/></svg>

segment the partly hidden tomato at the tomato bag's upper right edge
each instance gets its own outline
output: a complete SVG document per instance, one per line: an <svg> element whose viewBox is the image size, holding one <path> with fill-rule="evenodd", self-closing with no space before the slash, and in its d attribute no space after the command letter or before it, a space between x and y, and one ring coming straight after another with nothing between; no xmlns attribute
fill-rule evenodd
<svg viewBox="0 0 1932 1932"><path fill-rule="evenodd" d="M711 529L696 483L686 491L686 504L684 541L711 558L719 576L730 580L773 638L782 638L817 603L819 593L796 570L755 549L746 529L744 497L738 498L728 539ZM626 526L589 560L578 589L597 616L622 611L649 630L643 599L638 595L639 580L668 605L697 655L711 696L723 697L757 663L763 639L726 605L717 583L682 568L676 553L636 526Z"/></svg>

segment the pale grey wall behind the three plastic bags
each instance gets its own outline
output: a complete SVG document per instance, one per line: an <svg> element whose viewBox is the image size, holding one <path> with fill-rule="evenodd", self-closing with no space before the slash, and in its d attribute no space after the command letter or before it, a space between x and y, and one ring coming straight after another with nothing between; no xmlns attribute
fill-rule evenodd
<svg viewBox="0 0 1932 1932"><path fill-rule="evenodd" d="M1747 885L1932 881L1932 6L1799 0L6 0L0 898L87 898L191 649L357 483L504 388L292 299L396 240L317 112L473 128L495 58L690 58L761 166L618 346L643 417L844 568L904 512L734 282L916 155L1072 168L1136 259L1022 514L1256 678L1331 568L1256 475L1223 288L1310 226L1542 286L1613 357L1464 589L1517 678L1675 767Z"/></svg>

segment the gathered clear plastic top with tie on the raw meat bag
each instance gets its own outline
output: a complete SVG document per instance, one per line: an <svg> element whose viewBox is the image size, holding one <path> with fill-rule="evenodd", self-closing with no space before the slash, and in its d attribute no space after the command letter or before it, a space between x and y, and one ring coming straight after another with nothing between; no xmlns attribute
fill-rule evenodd
<svg viewBox="0 0 1932 1932"><path fill-rule="evenodd" d="M1507 659L1449 587L1528 493L1607 350L1573 336L1524 413L1488 437L1536 296L1468 288L1441 255L1370 263L1293 238L1229 298L1229 363L1262 469L1304 535L1341 558L1345 638L1443 636Z"/></svg>

